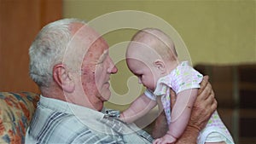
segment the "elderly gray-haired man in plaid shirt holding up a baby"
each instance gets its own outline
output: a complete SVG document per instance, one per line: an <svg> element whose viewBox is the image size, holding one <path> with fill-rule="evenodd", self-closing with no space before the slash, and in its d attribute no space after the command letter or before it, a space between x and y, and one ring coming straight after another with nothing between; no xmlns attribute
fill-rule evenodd
<svg viewBox="0 0 256 144"><path fill-rule="evenodd" d="M44 26L29 55L30 75L42 95L26 143L152 143L153 138L135 124L102 111L111 95L109 77L118 70L108 44L84 21L66 19ZM196 143L216 107L205 78L189 126L177 143ZM158 125L156 136L164 124Z"/></svg>

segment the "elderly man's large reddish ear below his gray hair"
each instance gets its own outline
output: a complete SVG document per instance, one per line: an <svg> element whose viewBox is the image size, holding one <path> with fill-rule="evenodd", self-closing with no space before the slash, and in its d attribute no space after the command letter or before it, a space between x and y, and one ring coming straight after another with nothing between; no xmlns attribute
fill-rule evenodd
<svg viewBox="0 0 256 144"><path fill-rule="evenodd" d="M67 71L67 67L63 64L54 66L53 78L56 84L58 84L64 91L71 93L75 89L72 74Z"/></svg>

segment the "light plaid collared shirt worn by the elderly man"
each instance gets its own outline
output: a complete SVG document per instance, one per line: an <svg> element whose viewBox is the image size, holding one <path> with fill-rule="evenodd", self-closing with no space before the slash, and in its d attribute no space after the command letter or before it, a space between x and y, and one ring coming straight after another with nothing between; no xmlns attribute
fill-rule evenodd
<svg viewBox="0 0 256 144"><path fill-rule="evenodd" d="M25 142L152 143L153 138L135 124L125 124L113 117L113 111L110 116L103 112L41 95Z"/></svg>

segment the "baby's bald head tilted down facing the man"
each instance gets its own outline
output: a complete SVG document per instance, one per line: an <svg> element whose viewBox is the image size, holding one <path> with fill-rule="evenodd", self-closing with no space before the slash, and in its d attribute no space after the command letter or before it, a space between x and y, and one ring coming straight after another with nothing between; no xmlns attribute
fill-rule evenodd
<svg viewBox="0 0 256 144"><path fill-rule="evenodd" d="M177 66L177 52L171 37L155 28L137 32L126 50L127 66L139 82L154 90L158 79Z"/></svg>

